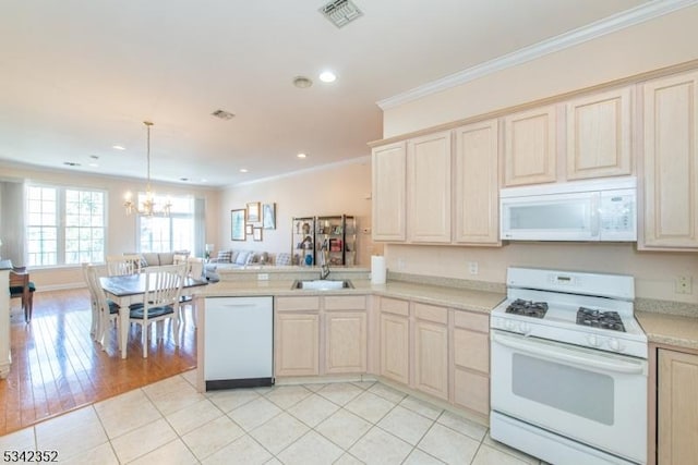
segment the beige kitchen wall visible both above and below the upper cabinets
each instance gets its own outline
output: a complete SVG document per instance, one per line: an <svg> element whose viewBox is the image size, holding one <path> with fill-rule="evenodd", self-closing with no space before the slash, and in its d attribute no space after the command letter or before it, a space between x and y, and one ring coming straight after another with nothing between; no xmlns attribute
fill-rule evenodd
<svg viewBox="0 0 698 465"><path fill-rule="evenodd" d="M392 108L392 137L698 59L698 7ZM510 244L502 248L386 246L394 271L504 282L508 266L579 269L636 277L640 297L698 303L698 253L637 252L618 244ZM468 272L477 261L479 274ZM676 294L691 276L693 294Z"/></svg>

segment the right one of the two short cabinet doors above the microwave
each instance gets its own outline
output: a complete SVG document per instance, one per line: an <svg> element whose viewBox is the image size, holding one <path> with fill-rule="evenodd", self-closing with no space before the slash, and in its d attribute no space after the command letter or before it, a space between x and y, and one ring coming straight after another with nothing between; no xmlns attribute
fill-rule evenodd
<svg viewBox="0 0 698 465"><path fill-rule="evenodd" d="M630 174L631 90L567 102L567 179Z"/></svg>

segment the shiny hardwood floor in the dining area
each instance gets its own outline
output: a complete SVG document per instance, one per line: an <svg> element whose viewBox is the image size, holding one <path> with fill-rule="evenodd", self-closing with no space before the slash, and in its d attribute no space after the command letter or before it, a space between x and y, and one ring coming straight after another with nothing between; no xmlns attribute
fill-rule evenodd
<svg viewBox="0 0 698 465"><path fill-rule="evenodd" d="M121 359L113 328L106 351L89 335L86 289L37 292L28 325L20 301L11 304L12 368L0 380L0 436L196 366L196 330L189 307L179 347L167 330L161 341L152 332L148 357L143 358L140 326L132 325L128 357Z"/></svg>

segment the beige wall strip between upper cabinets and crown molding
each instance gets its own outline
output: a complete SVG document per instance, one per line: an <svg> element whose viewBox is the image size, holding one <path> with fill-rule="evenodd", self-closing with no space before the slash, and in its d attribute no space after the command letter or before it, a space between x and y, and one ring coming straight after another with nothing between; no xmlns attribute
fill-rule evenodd
<svg viewBox="0 0 698 465"><path fill-rule="evenodd" d="M698 59L698 7L384 111L392 137Z"/></svg>

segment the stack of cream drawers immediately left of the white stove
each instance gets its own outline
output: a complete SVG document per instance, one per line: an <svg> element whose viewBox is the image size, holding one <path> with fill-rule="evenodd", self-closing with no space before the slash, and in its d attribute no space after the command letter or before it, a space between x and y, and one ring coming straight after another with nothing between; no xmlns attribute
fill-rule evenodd
<svg viewBox="0 0 698 465"><path fill-rule="evenodd" d="M488 315L454 311L453 402L490 415L490 319Z"/></svg>

